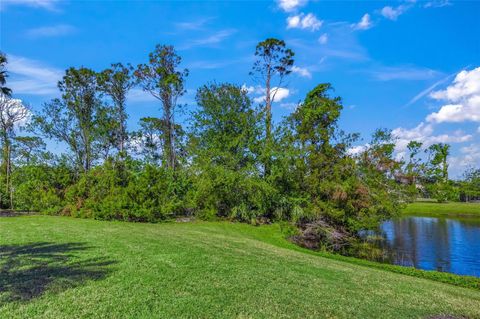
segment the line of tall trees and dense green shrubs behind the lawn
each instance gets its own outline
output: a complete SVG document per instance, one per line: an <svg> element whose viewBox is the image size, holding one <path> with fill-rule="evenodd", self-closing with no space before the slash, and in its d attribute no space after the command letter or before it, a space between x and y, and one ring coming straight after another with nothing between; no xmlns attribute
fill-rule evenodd
<svg viewBox="0 0 480 319"><path fill-rule="evenodd" d="M1 207L126 221L280 221L295 225L305 246L343 250L416 197L480 197L480 170L449 179L446 144L429 146L425 155L412 141L408 157L397 159L395 137L378 129L352 153L360 136L339 128L342 101L328 83L274 123L275 95L295 54L284 41L267 39L255 56L250 74L264 89L263 103L237 84L210 82L179 123L189 72L173 46L157 45L137 66L69 68L60 97L38 112L12 98L2 54ZM158 101L162 116L144 117L129 131L134 87ZM49 141L59 150L48 151Z"/></svg>

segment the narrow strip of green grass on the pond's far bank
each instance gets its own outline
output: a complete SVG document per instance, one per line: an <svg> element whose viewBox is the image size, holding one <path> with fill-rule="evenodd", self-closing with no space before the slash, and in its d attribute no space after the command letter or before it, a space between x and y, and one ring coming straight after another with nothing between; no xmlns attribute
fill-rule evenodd
<svg viewBox="0 0 480 319"><path fill-rule="evenodd" d="M415 202L404 209L405 215L423 216L477 216L480 217L479 203L436 203Z"/></svg>

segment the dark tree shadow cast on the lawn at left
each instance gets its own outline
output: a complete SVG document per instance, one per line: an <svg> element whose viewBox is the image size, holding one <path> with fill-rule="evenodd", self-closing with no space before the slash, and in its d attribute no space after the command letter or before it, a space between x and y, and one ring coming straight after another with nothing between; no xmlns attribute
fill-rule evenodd
<svg viewBox="0 0 480 319"><path fill-rule="evenodd" d="M87 280L100 280L115 262L105 258L80 260L83 243L0 245L0 305L29 301L44 292L61 292Z"/></svg>

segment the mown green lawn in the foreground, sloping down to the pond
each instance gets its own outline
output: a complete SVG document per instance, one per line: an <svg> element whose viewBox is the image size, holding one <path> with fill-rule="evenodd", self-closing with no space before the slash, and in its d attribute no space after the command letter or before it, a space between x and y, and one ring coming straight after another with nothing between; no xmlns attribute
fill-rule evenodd
<svg viewBox="0 0 480 319"><path fill-rule="evenodd" d="M480 291L324 258L278 225L0 218L0 318L480 318Z"/></svg>

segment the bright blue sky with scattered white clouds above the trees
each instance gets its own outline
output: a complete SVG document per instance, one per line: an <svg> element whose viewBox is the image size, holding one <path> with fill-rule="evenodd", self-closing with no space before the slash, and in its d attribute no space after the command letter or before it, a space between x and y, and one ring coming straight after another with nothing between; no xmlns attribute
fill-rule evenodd
<svg viewBox="0 0 480 319"><path fill-rule="evenodd" d="M214 80L261 100L248 75L255 45L277 37L295 51L296 69L277 95L276 121L330 82L343 98L342 129L366 143L375 128L391 128L399 156L410 139L450 143L458 176L480 167L479 16L479 1L2 0L0 49L14 96L38 110L67 67L136 65L155 44L172 44L190 70L181 102L192 109L195 90ZM139 89L128 112L131 129L160 115Z"/></svg>

